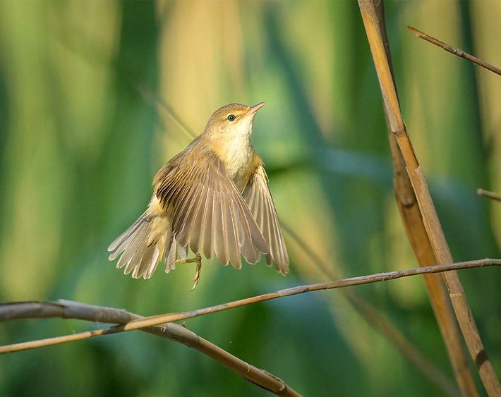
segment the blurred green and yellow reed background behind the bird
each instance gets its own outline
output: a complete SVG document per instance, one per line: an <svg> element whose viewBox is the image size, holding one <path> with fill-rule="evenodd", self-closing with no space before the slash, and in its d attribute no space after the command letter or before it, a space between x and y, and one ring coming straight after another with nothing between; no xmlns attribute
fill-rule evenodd
<svg viewBox="0 0 501 397"><path fill-rule="evenodd" d="M388 1L397 87L454 259L499 257L501 80L406 31L501 65L501 2ZM291 274L205 262L135 281L107 246L143 212L155 171L229 102L267 101L253 143L284 224ZM0 301L79 300L143 315L301 283L416 266L399 219L380 90L355 1L0 3ZM324 267L320 271L319 267ZM325 270L327 269L327 270ZM327 275L326 275L327 272ZM329 276L330 275L330 276ZM501 373L501 274L461 271ZM452 379L420 278L353 288ZM306 396L442 391L340 291L186 322ZM1 324L0 343L99 324ZM128 333L0 357L1 396L266 396L195 350Z"/></svg>

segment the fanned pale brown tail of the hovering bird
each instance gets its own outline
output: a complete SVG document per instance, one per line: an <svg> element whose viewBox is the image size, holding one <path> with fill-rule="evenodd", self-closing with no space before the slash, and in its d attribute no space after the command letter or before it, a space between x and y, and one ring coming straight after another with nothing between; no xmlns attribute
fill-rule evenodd
<svg viewBox="0 0 501 397"><path fill-rule="evenodd" d="M164 257L167 257L165 271L168 272L174 269L178 254L182 259L186 259L187 254L186 248L176 243L167 216L151 215L148 211L116 238L108 251L111 252L109 260L121 255L116 267L125 267L125 274L132 271L134 279L149 279Z"/></svg>

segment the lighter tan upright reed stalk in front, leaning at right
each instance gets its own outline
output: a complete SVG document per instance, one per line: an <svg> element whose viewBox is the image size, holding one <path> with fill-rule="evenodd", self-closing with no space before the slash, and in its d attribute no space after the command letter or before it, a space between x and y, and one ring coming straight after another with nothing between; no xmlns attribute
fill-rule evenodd
<svg viewBox="0 0 501 397"><path fill-rule="evenodd" d="M431 200L428 185L419 166L409 136L406 133L404 121L402 120L397 92L385 54L374 2L370 0L358 0L358 4L361 8L370 51L373 54L373 61L378 73L390 128L397 138L399 148L406 163L406 170L409 173L409 178L414 188L419 208L421 209L421 216L423 217L423 223L433 248L435 259L437 263L452 262L452 255L445 240L433 201ZM442 277L449 290L449 297L452 301L452 306L454 307L464 340L466 341L466 346L468 346L471 358L478 368L478 373L480 374L485 390L490 396L501 396L499 380L490 360L488 360L457 272L448 271L442 274ZM463 389L463 392L466 393L467 391Z"/></svg>

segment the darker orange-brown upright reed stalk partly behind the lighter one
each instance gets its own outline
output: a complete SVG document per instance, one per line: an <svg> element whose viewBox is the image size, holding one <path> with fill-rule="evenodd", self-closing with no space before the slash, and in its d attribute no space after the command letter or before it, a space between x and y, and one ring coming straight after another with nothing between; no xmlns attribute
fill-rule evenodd
<svg viewBox="0 0 501 397"><path fill-rule="evenodd" d="M387 57L388 66L394 85L395 94L398 100L397 87L394 83L392 60L390 56L390 45L387 38L387 30L385 24L385 13L383 2L380 1L375 6L375 11L378 16L378 26L382 43L384 45L385 54ZM435 255L433 252L428 233L426 233L421 209L418 206L418 201L412 188L409 174L406 171L406 163L402 152L399 148L397 138L392 133L390 118L385 107L385 118L388 128L388 139L390 140L390 149L392 152L392 164L394 170L394 189L397 207L404 223L407 238L411 244L411 248L418 259L420 266L428 266L436 264ZM475 380L466 357L464 343L461 339L454 310L452 309L451 301L445 284L439 274L425 274L424 276L426 287L428 288L428 296L430 304L435 313L437 324L442 334L442 338L449 355L449 360L454 370L454 376L457 383L465 396L478 396Z"/></svg>

